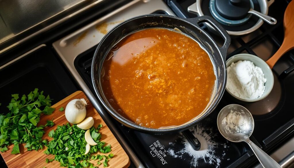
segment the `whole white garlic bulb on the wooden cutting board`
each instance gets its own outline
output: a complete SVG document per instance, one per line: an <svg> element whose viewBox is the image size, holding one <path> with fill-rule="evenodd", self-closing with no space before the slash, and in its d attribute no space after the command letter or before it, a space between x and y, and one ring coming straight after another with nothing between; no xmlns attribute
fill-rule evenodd
<svg viewBox="0 0 294 168"><path fill-rule="evenodd" d="M72 124L78 124L83 121L86 117L86 105L85 99L73 99L71 100L65 108L65 117L67 121Z"/></svg>

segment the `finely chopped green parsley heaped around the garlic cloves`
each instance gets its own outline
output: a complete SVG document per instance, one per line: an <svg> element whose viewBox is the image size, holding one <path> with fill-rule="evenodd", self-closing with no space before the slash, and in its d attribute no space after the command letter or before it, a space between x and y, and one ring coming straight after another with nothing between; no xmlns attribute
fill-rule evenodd
<svg viewBox="0 0 294 168"><path fill-rule="evenodd" d="M104 159L104 167L108 166L108 159L113 157L113 154L105 155L92 155L100 151L101 153L108 153L111 151L111 146L105 145L105 142L101 142L101 134L99 129L102 127L101 124L95 129L92 127L90 129L91 137L97 143L95 146L91 146L90 152L84 154L86 151L86 140L85 140L85 130L78 128L76 125L70 126L69 123L63 126L57 126L56 130L51 130L48 133L49 137L54 138L47 145L47 150L45 154L54 154L55 160L60 162L60 166L69 168L80 168L80 167L90 167L96 168L90 160L98 160L97 164L101 164L101 160ZM46 159L46 163L53 161L53 159Z"/></svg>

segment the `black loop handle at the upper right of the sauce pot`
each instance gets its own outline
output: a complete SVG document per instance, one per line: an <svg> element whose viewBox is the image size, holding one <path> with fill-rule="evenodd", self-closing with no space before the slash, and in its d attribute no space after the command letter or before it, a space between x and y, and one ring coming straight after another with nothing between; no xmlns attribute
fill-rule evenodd
<svg viewBox="0 0 294 168"><path fill-rule="evenodd" d="M198 26L198 23L203 23L203 22L207 22L209 24L211 24L211 26L216 30L218 31L218 33L221 35L221 37L224 39L224 44L223 46L218 47L218 49L220 50L220 54L222 55L223 57L223 60L225 61L226 59L226 56L227 56L227 51L228 51L228 48L230 46L230 43L231 43L231 37L230 35L228 34L228 32L215 20L213 19L212 17L210 16L199 16L199 17L196 17L196 18L188 18L188 19L185 19L186 21L190 22L191 24ZM200 27L199 27L200 28ZM201 28L200 28L201 29ZM202 29L203 30L203 29ZM204 31L204 30L203 30ZM210 38L211 40L216 44L216 41L208 34L206 33Z"/></svg>

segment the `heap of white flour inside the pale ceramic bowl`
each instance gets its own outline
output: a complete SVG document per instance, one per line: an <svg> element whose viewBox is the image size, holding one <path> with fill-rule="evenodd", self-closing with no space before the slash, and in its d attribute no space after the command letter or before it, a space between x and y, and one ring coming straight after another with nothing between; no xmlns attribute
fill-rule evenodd
<svg viewBox="0 0 294 168"><path fill-rule="evenodd" d="M228 81L226 88L242 99L257 99L265 91L263 71L250 61L238 61L227 68Z"/></svg>

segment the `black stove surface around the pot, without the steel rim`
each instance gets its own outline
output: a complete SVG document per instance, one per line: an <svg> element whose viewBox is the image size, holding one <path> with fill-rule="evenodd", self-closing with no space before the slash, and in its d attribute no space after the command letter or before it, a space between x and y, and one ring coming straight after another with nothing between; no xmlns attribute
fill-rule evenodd
<svg viewBox="0 0 294 168"><path fill-rule="evenodd" d="M186 11L194 2L195 0L169 0L167 4L178 16L195 17ZM270 16L278 20L276 25L263 24L251 34L234 37L227 59L240 53L257 55L265 61L270 58L283 41L283 14L287 4L287 1L276 1L270 6ZM164 14L163 11L157 13ZM211 35L220 41L220 37ZM95 49L96 46L80 54L74 62L77 71L93 93L90 69ZM293 137L293 70L294 55L293 51L289 51L273 68L275 86L271 95L258 104L241 104L255 114L258 114L258 111L267 113L253 116L255 129L250 137L265 152L277 149L284 141ZM240 103L235 102L225 92L215 111L190 129L201 142L199 151L194 151L181 134L151 135L126 128L114 119L113 123L121 130L130 147L146 167L252 167L257 159L247 144L228 142L218 132L216 117L220 109L228 104Z"/></svg>

